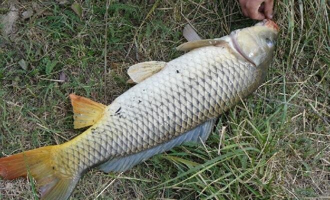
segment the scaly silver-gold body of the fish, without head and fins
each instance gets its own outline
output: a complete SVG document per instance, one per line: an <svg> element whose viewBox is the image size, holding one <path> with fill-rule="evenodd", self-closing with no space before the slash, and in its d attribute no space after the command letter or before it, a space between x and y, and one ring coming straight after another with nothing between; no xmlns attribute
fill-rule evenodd
<svg viewBox="0 0 330 200"><path fill-rule="evenodd" d="M260 82L260 71L230 51L216 46L194 49L128 89L106 107L90 134L62 144L54 157L62 172L79 174L151 148L228 110Z"/></svg>

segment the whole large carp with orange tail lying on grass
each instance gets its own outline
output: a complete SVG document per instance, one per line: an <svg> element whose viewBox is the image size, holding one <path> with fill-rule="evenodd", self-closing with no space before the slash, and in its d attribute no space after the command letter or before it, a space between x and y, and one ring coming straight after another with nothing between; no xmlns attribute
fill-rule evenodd
<svg viewBox="0 0 330 200"><path fill-rule="evenodd" d="M0 177L31 175L44 200L67 199L90 168L108 173L187 141L204 142L214 120L262 83L273 59L278 25L264 19L214 39L185 29L183 55L127 70L134 86L109 105L69 94L75 138L0 158Z"/></svg>

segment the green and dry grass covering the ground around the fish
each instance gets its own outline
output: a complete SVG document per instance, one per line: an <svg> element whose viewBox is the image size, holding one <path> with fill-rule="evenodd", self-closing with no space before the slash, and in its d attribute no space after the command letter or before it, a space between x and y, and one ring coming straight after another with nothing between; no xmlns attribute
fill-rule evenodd
<svg viewBox="0 0 330 200"><path fill-rule="evenodd" d="M0 14L10 3L15 2L1 4ZM1 157L78 135L68 94L110 104L132 86L125 83L128 66L181 54L173 47L185 41L181 30L187 21L202 38L255 22L241 15L235 0L155 6L110 1L108 8L104 0L86 0L82 19L70 4L26 0L16 6L34 14L17 21L13 40L0 37ZM329 197L328 10L326 0L276 1L281 30L265 81L220 117L204 145L176 147L124 173L93 169L71 199ZM60 73L66 80L54 81ZM32 179L0 180L0 199L35 194Z"/></svg>

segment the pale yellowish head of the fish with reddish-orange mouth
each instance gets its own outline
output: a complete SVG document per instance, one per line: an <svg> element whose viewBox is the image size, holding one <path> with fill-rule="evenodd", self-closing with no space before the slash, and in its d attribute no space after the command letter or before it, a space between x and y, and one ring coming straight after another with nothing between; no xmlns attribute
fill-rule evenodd
<svg viewBox="0 0 330 200"><path fill-rule="evenodd" d="M276 44L278 25L263 19L253 26L230 33L235 49L256 67L268 68Z"/></svg>

